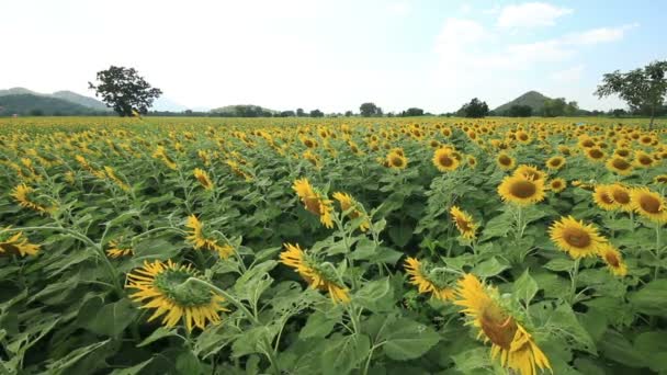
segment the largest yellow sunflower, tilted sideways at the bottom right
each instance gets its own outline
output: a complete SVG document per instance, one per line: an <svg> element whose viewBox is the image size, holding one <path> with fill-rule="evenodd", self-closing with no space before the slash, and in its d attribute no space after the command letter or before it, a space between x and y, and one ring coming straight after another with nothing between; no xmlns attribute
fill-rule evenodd
<svg viewBox="0 0 667 375"><path fill-rule="evenodd" d="M483 285L473 274L463 276L456 287L454 305L464 307L468 325L479 330L478 338L491 342L491 359L520 375L534 375L536 367L551 370L549 359L532 336L498 302L498 291Z"/></svg>

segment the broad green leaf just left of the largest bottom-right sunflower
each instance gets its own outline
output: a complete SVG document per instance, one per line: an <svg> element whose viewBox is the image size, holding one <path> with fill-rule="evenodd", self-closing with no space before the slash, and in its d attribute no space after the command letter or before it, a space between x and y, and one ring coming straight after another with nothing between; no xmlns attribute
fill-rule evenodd
<svg viewBox="0 0 667 375"><path fill-rule="evenodd" d="M384 352L396 361L419 357L440 341L440 334L432 328L407 318L391 322L383 333Z"/></svg>

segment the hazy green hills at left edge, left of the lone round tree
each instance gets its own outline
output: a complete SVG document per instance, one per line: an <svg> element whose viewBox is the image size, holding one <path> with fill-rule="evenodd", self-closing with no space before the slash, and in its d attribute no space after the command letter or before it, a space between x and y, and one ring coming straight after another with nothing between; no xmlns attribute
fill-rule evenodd
<svg viewBox="0 0 667 375"><path fill-rule="evenodd" d="M83 115L94 110L63 99L34 94L0 95L0 116Z"/></svg>

